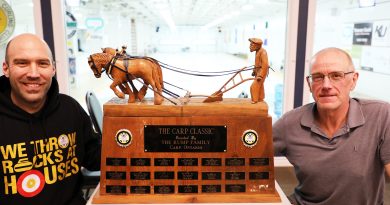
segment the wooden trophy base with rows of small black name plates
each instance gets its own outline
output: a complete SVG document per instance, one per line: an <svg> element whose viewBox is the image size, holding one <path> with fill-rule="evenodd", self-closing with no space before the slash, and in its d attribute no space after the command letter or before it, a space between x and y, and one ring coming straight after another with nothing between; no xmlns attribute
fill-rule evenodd
<svg viewBox="0 0 390 205"><path fill-rule="evenodd" d="M279 202L267 104L202 100L105 103L93 203Z"/></svg>

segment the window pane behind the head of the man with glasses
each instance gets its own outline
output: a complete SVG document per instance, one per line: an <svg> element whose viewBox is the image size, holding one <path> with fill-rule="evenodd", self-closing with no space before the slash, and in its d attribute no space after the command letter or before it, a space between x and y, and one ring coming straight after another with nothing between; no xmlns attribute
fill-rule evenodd
<svg viewBox="0 0 390 205"><path fill-rule="evenodd" d="M318 0L314 53L335 46L348 51L359 72L352 95L390 102L389 1L360 7L359 1Z"/></svg>

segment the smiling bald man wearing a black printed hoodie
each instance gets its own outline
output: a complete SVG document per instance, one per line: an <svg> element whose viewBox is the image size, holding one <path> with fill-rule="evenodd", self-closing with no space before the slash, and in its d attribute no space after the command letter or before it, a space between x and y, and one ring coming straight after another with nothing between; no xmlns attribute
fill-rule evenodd
<svg viewBox="0 0 390 205"><path fill-rule="evenodd" d="M85 204L81 167L99 170L101 145L87 113L59 93L48 45L21 34L0 77L0 204Z"/></svg>

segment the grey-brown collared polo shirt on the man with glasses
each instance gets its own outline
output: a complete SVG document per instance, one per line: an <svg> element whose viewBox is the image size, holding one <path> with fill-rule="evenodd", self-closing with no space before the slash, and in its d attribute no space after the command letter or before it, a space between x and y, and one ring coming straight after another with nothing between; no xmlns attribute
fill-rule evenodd
<svg viewBox="0 0 390 205"><path fill-rule="evenodd" d="M390 163L390 104L350 99L347 121L327 138L314 123L316 104L294 109L273 125L275 155L294 165L301 204L383 204Z"/></svg>

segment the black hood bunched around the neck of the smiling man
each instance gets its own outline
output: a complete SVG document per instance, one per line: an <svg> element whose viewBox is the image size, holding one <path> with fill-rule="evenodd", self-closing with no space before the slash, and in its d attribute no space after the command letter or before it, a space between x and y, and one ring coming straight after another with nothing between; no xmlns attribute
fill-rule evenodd
<svg viewBox="0 0 390 205"><path fill-rule="evenodd" d="M11 84L6 76L0 76L0 114L7 115L11 118L27 121L32 116L41 118L50 114L59 105L59 88L58 82L53 77L50 89L47 93L47 99L42 109L34 114L30 114L17 107L11 100Z"/></svg>

